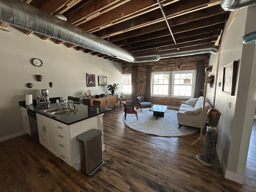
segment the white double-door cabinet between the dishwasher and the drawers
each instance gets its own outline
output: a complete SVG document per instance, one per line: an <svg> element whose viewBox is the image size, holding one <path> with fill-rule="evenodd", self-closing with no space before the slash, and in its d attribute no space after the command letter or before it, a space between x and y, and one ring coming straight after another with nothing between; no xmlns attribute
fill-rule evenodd
<svg viewBox="0 0 256 192"><path fill-rule="evenodd" d="M50 152L58 156L56 129L40 120L37 120L39 142Z"/></svg>

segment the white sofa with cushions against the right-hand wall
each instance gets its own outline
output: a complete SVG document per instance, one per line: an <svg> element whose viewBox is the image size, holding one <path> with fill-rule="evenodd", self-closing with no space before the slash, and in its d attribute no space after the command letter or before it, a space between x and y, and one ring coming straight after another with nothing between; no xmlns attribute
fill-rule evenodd
<svg viewBox="0 0 256 192"><path fill-rule="evenodd" d="M179 128L183 125L201 128L202 108L204 97L190 98L187 101L182 101L179 112L177 114ZM207 112L212 106L206 102L203 116L203 124L207 121Z"/></svg>

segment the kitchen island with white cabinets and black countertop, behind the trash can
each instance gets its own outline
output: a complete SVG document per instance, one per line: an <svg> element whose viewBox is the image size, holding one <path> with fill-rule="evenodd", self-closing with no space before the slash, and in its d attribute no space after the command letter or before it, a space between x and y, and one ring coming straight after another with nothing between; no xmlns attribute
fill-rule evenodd
<svg viewBox="0 0 256 192"><path fill-rule="evenodd" d="M105 149L103 115L105 112L110 111L110 108L75 104L75 108L78 111L53 116L44 111L52 108L61 108L62 106L55 103L25 105L24 102L20 102L20 107L36 113L40 144L76 170L81 168L79 142L76 140L78 135L91 129L101 130L102 151Z"/></svg>

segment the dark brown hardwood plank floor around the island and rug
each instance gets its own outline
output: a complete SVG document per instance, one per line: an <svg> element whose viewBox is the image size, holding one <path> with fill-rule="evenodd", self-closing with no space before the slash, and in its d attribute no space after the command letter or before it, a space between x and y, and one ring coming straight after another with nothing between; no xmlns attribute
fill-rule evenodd
<svg viewBox="0 0 256 192"><path fill-rule="evenodd" d="M217 156L214 166L196 160L204 141L190 144L199 132L176 138L143 134L127 128L122 116L119 105L104 115L105 164L89 177L27 134L1 142L0 192L256 192L255 123L242 185L224 178Z"/></svg>

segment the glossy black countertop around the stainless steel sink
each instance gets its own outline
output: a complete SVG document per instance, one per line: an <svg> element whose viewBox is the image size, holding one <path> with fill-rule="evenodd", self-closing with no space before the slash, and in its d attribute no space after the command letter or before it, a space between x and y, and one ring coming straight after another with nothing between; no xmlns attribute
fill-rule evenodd
<svg viewBox="0 0 256 192"><path fill-rule="evenodd" d="M73 107L74 103L71 103L71 102L69 102L69 103ZM102 114L102 113L105 113L105 112L108 112L111 110L111 108L106 108L106 107L95 107L95 106L88 106L88 105L83 105L83 104L75 104L75 105L76 105L76 109L80 109L81 111L72 112L70 114L55 117L55 116L49 115L47 113L44 113L40 110L61 107L61 105L56 105L56 103L41 104L41 105L35 105L35 104L26 105L25 102L20 102L21 107L24 107L28 110L34 111L38 114L44 115L46 117L49 117L51 119L54 119L56 121L62 122L67 125L91 118L93 116L97 116L99 114Z"/></svg>

